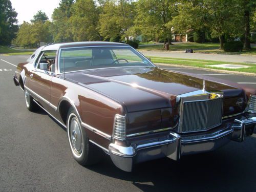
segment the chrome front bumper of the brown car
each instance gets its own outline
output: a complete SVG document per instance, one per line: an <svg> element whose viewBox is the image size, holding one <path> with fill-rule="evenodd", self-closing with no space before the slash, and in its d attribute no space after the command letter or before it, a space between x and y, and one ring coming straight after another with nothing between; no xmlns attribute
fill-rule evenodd
<svg viewBox="0 0 256 192"><path fill-rule="evenodd" d="M130 146L111 143L109 154L114 164L126 172L131 172L134 164L139 162L162 157L179 160L183 155L214 151L230 140L244 141L246 136L253 133L256 117L241 115L232 122L223 123L218 130L201 134L179 135L170 132L167 136L132 143Z"/></svg>

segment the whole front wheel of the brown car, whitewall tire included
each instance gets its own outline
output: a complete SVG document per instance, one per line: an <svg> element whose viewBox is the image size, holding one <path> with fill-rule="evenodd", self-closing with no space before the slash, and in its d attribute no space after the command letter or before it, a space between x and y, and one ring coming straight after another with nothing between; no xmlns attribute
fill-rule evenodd
<svg viewBox="0 0 256 192"><path fill-rule="evenodd" d="M72 155L79 164L87 166L100 160L99 148L89 142L86 131L81 126L78 115L73 108L70 108L68 112L67 134Z"/></svg>

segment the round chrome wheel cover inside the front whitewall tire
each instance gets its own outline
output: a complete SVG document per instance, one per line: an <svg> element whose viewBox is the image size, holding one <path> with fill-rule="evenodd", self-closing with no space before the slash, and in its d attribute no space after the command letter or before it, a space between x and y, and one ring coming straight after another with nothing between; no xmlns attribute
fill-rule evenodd
<svg viewBox="0 0 256 192"><path fill-rule="evenodd" d="M77 156L80 156L83 148L83 138L81 126L74 115L70 115L68 132L71 148Z"/></svg>

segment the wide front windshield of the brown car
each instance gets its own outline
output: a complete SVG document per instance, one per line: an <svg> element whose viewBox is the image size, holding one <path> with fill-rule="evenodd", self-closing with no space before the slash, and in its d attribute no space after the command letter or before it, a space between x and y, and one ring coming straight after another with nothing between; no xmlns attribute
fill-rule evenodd
<svg viewBox="0 0 256 192"><path fill-rule="evenodd" d="M96 68L145 66L154 67L130 47L87 47L63 49L60 52L60 73Z"/></svg>

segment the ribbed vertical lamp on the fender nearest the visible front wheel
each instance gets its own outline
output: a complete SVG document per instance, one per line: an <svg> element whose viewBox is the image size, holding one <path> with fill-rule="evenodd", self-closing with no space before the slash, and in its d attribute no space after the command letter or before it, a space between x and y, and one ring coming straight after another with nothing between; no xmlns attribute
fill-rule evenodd
<svg viewBox="0 0 256 192"><path fill-rule="evenodd" d="M115 115L113 137L121 140L126 138L126 116Z"/></svg>

